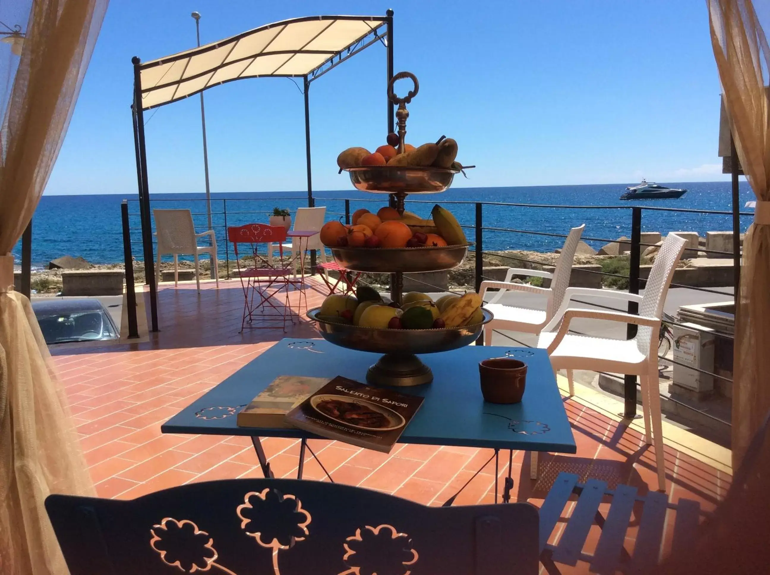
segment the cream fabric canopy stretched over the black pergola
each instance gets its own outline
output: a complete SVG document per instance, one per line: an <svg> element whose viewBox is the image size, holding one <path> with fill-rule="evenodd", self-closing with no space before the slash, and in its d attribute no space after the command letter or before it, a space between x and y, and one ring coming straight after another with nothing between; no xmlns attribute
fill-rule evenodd
<svg viewBox="0 0 770 575"><path fill-rule="evenodd" d="M144 62L142 109L237 79L308 75L385 23L381 16L294 18Z"/></svg>

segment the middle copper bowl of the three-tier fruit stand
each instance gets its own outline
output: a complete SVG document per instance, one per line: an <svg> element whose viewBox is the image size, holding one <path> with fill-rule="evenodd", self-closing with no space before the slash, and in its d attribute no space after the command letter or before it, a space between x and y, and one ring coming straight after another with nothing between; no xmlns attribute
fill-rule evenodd
<svg viewBox="0 0 770 575"><path fill-rule="evenodd" d="M332 256L341 267L353 272L418 273L439 272L460 265L468 246L425 246L420 248L334 247Z"/></svg>

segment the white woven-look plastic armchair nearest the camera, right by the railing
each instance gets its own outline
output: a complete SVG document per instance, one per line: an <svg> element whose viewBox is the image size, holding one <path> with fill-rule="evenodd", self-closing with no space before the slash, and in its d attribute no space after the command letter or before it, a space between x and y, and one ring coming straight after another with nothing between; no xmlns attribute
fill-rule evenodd
<svg viewBox="0 0 770 575"><path fill-rule="evenodd" d="M668 286L671 285L671 278L674 276L681 254L685 251L685 244L685 239L668 234L650 270L650 276L644 287L644 296L610 289L567 288L561 306L543 328L537 341L537 347L547 349L554 372L557 369L567 369L571 395L574 394L573 369L639 376L644 415L644 442L654 443L660 490L665 490L665 460L661 398L658 390L658 335ZM597 309L567 309L573 296L603 296L638 302L639 315ZM572 319L575 318L634 323L639 327L636 336L632 339L580 336L567 333ZM559 325L560 322L561 325ZM650 427L652 427L652 440ZM534 452L533 455L535 455ZM532 463L533 470L537 470L534 457Z"/></svg>

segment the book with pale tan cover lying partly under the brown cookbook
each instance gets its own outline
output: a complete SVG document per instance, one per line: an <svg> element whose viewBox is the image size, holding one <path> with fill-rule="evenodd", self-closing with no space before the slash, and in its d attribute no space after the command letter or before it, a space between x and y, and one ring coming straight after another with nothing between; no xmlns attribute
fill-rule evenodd
<svg viewBox="0 0 770 575"><path fill-rule="evenodd" d="M328 377L279 376L238 413L239 427L291 427L284 416L318 391Z"/></svg>

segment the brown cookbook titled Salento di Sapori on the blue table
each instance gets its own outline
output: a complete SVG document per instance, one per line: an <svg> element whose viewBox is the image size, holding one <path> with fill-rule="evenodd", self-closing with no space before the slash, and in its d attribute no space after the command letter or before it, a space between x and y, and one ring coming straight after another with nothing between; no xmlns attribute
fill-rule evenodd
<svg viewBox="0 0 770 575"><path fill-rule="evenodd" d="M336 376L286 413L286 422L330 440L390 453L423 398Z"/></svg>

